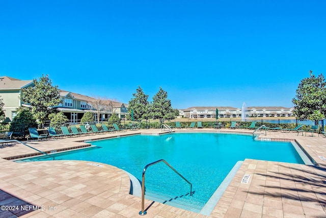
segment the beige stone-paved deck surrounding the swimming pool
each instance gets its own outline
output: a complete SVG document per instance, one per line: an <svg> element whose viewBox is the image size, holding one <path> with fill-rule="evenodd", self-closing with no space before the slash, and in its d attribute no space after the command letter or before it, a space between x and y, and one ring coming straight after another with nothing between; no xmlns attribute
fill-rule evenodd
<svg viewBox="0 0 326 218"><path fill-rule="evenodd" d="M175 131L253 133L243 129ZM60 151L87 146L89 142L84 140L88 139L136 133L160 134L161 130L27 143L41 151ZM280 131L268 131L260 138L296 140L318 165L246 159L209 216L155 202L144 217L326 217L326 138ZM17 163L4 159L33 153L18 143L0 148L0 205L8 206L6 210L18 206L12 211L0 210L0 217L141 217L141 198L129 194L130 179L121 169L90 161ZM250 175L248 183L242 182L244 175ZM146 200L145 208L151 203ZM33 210L36 206L39 209Z"/></svg>

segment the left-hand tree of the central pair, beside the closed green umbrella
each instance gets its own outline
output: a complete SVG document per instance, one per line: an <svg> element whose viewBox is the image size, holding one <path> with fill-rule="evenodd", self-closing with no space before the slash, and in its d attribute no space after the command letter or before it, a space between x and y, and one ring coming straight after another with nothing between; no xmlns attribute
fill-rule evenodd
<svg viewBox="0 0 326 218"><path fill-rule="evenodd" d="M149 118L149 103L147 101L148 95L144 93L143 89L138 86L136 93L132 94L133 99L129 101L128 112L131 113L133 109L133 118L138 119L148 119Z"/></svg>

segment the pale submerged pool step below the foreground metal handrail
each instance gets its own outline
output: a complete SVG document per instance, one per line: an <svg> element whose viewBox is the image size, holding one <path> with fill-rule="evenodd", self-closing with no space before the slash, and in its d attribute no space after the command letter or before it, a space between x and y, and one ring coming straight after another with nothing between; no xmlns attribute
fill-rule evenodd
<svg viewBox="0 0 326 218"><path fill-rule="evenodd" d="M203 204L194 201L193 197L191 197L190 195L184 195L179 197L179 196L169 196L159 192L154 193L154 192L146 191L145 198L148 200L152 200L155 202L167 204L173 207L177 207L177 208L181 208L197 213L199 213L204 206Z"/></svg>

